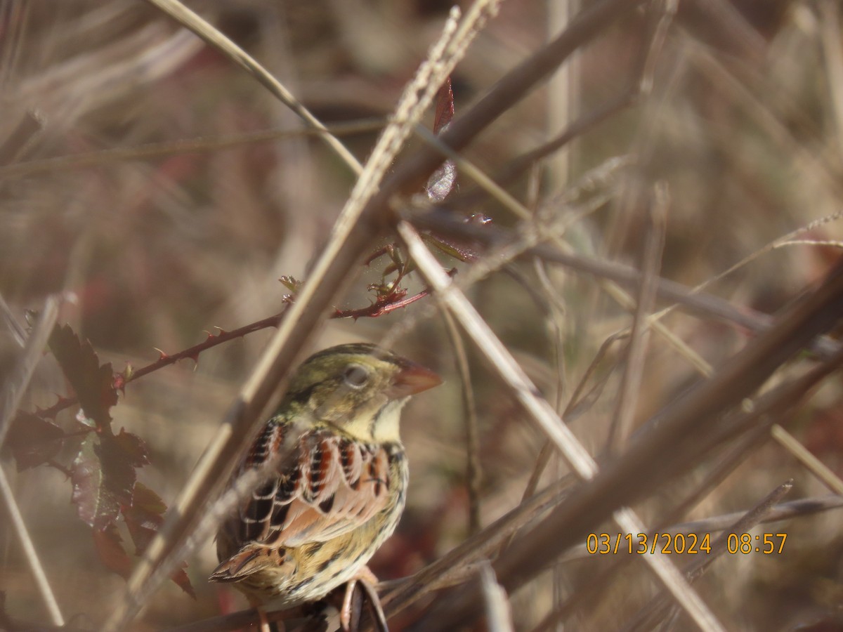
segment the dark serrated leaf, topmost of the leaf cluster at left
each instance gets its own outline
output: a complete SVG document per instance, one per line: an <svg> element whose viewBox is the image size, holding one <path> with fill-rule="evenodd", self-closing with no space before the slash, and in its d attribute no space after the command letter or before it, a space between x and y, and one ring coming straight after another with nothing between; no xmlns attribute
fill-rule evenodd
<svg viewBox="0 0 843 632"><path fill-rule="evenodd" d="M117 403L111 364L100 367L90 343L87 340L81 342L67 324L53 328L49 345L85 415L94 420L97 430L108 427L111 421L109 409Z"/></svg>

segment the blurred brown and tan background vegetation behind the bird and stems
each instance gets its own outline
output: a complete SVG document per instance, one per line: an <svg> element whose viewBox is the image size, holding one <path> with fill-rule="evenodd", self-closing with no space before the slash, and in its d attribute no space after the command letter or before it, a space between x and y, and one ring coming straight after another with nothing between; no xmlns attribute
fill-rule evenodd
<svg viewBox="0 0 843 632"><path fill-rule="evenodd" d="M588 7L590 0L581 0ZM364 121L342 136L362 161L405 83L436 39L450 3L426 0L191 0L272 72L326 125ZM502 3L453 76L456 115L502 75L555 36L577 3ZM583 195L605 195L572 222L573 252L638 266L651 230L646 204L630 191L663 182L669 191L660 274L738 308L776 313L838 259L843 57L840 8L831 0L682 0L642 3L583 46L559 72L496 121L464 153L486 173L556 137L571 121L604 111L561 152L507 181L540 216L565 217L565 195L590 177ZM656 42L656 44L654 44ZM657 46L658 45L658 46ZM303 134L282 104L217 51L152 6L130 0L0 2L0 295L24 322L47 296L66 292L60 322L90 340L115 370L142 367L158 351L196 345L205 331L230 330L279 313L288 290L280 276L307 277L354 176L325 146ZM431 125L432 115L427 124ZM256 132L277 131L263 137ZM412 141L411 147L419 146ZM633 157L634 169L607 169ZM609 163L615 164L615 163ZM599 170L599 177L593 169ZM607 175L608 174L608 175ZM459 194L475 185L459 179ZM483 201L492 225L516 223ZM817 222L813 224L812 222ZM789 233L799 243L786 243ZM776 242L776 240L778 240ZM768 244L776 242L776 248ZM812 242L812 243L806 243ZM372 250L387 241L373 241ZM724 270L751 258L728 276ZM385 260L361 265L337 304L365 307ZM443 258L443 265L471 265ZM411 281L411 292L422 287ZM599 348L631 316L592 277L520 260L466 290L496 334L552 404L563 410ZM466 413L454 345L441 315L421 301L377 319L333 320L319 347L378 341L395 324L416 321L396 351L440 372L446 384L405 415L411 459L409 504L373 570L394 579L424 565L521 501L544 443L512 396L469 348L479 424L481 479L467 484ZM675 312L663 323L715 367L748 332ZM214 435L273 329L203 352L126 388L114 427L147 442L151 464L139 480L173 501ZM0 332L0 378L17 352ZM593 454L604 450L622 366L613 345L600 364L605 386L570 419ZM787 370L785 370L787 372ZM647 349L634 414L647 420L699 377L687 356L657 336ZM25 410L67 395L51 356L40 363ZM75 410L56 418L69 427ZM843 473L840 387L820 389L788 429L837 474ZM78 444L56 463L68 467ZM67 619L95 629L125 582L105 570L89 528L71 504L60 469L3 469ZM551 459L544 482L566 474ZM695 476L642 506L645 521L694 485ZM681 520L740 511L786 479L786 500L828 490L795 458L768 442ZM543 483L544 484L544 483ZM479 504L470 495L479 495ZM727 555L699 582L728 629L843 629L843 537L831 511L776 523L787 532L778 555ZM613 526L607 526L611 531ZM616 528L615 528L616 531ZM0 591L15 619L46 621L18 546L0 521ZM131 545L129 547L132 552ZM196 600L169 584L136 629L164 629L246 607L212 586L212 542L188 560ZM536 629L553 603L607 560L580 556L514 593L516 629ZM572 629L620 629L652 595L642 565L628 565L603 594L573 608ZM395 620L401 629L401 619ZM813 627L812 627L813 626ZM818 627L819 626L819 627Z"/></svg>

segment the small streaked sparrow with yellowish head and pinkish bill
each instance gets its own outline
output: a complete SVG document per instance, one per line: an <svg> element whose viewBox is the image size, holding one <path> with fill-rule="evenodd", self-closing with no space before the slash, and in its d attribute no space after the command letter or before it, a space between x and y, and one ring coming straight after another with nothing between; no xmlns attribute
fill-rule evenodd
<svg viewBox="0 0 843 632"><path fill-rule="evenodd" d="M405 505L401 409L411 395L441 382L374 345L310 356L235 474L286 452L217 533L221 564L210 579L234 582L253 605L279 608L373 579L366 563Z"/></svg>

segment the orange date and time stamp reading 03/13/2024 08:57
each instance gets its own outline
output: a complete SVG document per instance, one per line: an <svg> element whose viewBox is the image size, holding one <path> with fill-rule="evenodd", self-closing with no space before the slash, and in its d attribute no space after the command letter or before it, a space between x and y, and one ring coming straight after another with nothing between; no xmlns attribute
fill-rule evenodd
<svg viewBox="0 0 843 632"><path fill-rule="evenodd" d="M728 533L730 554L781 554L787 533ZM711 554L711 533L588 533L585 548L592 555Z"/></svg>

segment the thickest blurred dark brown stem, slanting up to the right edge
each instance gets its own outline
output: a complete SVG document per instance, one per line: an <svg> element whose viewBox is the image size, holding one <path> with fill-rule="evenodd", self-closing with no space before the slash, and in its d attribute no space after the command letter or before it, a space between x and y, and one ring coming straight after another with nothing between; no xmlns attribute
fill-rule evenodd
<svg viewBox="0 0 843 632"><path fill-rule="evenodd" d="M843 267L833 270L815 292L782 314L776 325L749 342L711 379L679 396L659 414L658 426L646 440L631 442L620 458L607 463L593 481L574 490L566 503L539 527L502 554L495 565L504 586L524 581L537 572L551 551L566 549L609 516L615 506L635 502L698 462L701 441L710 436L712 419L738 405L765 381L782 362L807 345L814 336L838 324L843 313ZM843 361L839 352L819 367L823 378ZM681 448L681 449L679 449ZM439 616L462 621L474 613L470 595L458 591L437 608ZM447 615L443 612L447 612Z"/></svg>

